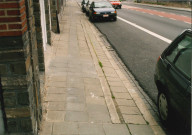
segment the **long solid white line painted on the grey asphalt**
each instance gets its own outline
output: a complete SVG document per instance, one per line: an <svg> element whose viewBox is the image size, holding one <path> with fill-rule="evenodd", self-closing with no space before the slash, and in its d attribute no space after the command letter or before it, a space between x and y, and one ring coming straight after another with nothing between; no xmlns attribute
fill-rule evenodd
<svg viewBox="0 0 192 135"><path fill-rule="evenodd" d="M123 22L126 22L126 23L128 23L128 24L130 24L130 25L132 25L132 26L134 26L134 27L136 27L136 28L138 28L138 29L140 29L140 30L142 30L142 31L144 31L144 32L146 32L146 33L148 33L148 34L156 37L156 38L158 38L158 39L163 40L163 41L166 42L166 43L169 43L169 44L170 44L170 43L172 42L170 39L167 39L167 38L165 38L165 37L163 37L163 36L161 36L161 35L159 35L159 34L156 34L156 33L152 32L152 31L150 31L150 30L147 30L147 29L145 29L145 28L143 28L143 27L141 27L141 26L139 26L139 25L137 25L137 24L135 24L135 23L129 22L129 21L127 21L127 20L125 20L125 19L123 19L123 18L121 18L121 17L119 17L119 16L118 16L117 18L120 19L120 20L123 21Z"/></svg>

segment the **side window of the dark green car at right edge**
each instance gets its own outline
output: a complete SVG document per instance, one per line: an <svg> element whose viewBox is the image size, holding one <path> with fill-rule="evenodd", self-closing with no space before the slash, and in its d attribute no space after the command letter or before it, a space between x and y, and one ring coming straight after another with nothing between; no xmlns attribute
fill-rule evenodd
<svg viewBox="0 0 192 135"><path fill-rule="evenodd" d="M175 47L167 53L166 59L183 74L191 78L191 53L192 36L185 35L176 43Z"/></svg>

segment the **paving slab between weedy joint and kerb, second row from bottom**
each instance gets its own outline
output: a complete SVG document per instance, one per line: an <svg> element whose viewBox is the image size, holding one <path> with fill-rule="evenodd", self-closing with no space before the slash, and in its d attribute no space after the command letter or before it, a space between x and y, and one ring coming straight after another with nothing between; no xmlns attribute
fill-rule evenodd
<svg viewBox="0 0 192 135"><path fill-rule="evenodd" d="M123 114L125 123L129 124L146 124L146 121L143 119L142 115L126 115Z"/></svg>

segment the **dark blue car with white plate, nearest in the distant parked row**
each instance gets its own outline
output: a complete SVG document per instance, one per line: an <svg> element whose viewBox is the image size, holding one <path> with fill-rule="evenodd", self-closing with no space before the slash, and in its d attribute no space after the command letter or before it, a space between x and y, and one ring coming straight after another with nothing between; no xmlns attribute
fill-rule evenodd
<svg viewBox="0 0 192 135"><path fill-rule="evenodd" d="M108 1L93 1L89 8L89 19L113 19L117 20L117 11Z"/></svg>

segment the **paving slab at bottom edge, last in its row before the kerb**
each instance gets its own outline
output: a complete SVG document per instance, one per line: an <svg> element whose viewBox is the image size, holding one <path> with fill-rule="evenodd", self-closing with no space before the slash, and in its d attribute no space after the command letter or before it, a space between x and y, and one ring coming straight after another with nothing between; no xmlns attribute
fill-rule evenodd
<svg viewBox="0 0 192 135"><path fill-rule="evenodd" d="M154 135L149 125L133 125L128 124L132 135Z"/></svg>

